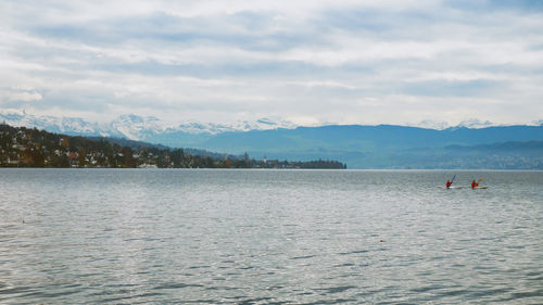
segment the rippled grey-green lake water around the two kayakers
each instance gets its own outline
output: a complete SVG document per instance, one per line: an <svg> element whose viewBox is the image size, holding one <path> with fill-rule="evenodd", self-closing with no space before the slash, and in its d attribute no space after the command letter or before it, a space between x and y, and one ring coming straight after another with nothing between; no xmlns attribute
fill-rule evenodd
<svg viewBox="0 0 543 305"><path fill-rule="evenodd" d="M487 302L543 303L543 171L0 169L0 303Z"/></svg>

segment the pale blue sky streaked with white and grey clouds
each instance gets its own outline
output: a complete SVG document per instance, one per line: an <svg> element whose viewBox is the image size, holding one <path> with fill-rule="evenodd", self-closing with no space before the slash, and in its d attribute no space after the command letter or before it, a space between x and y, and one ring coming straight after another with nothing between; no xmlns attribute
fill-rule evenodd
<svg viewBox="0 0 543 305"><path fill-rule="evenodd" d="M543 1L0 1L0 110L108 122L543 119Z"/></svg>

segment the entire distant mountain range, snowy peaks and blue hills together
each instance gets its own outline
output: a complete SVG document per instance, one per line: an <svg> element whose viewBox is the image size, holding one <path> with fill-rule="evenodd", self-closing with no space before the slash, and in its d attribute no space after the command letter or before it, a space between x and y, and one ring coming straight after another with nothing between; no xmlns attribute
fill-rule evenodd
<svg viewBox="0 0 543 305"><path fill-rule="evenodd" d="M269 118L166 125L155 117L122 115L109 124L97 124L24 111L0 112L1 120L58 134L126 138L228 154L248 152L256 158L337 160L349 168L543 168L543 122L492 126L467 120L463 126L445 128L438 124L441 128L433 129L394 125L303 127Z"/></svg>

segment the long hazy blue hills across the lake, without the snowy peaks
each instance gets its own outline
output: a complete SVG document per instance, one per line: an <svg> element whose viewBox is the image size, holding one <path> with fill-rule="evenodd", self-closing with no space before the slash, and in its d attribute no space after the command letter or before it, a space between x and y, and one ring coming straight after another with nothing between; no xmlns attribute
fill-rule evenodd
<svg viewBox="0 0 543 305"><path fill-rule="evenodd" d="M435 130L381 125L225 132L193 145L229 153L247 151L256 157L339 160L350 168L533 169L542 168L541 141L542 126Z"/></svg>

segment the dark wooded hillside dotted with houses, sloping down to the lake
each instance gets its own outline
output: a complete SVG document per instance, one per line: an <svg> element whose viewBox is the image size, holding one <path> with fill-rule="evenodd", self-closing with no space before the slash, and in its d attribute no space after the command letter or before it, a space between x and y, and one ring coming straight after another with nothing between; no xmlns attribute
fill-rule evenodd
<svg viewBox="0 0 543 305"><path fill-rule="evenodd" d="M0 124L0 167L346 168L338 161L254 160L247 153L242 156L192 154L187 151L193 150L117 142Z"/></svg>

